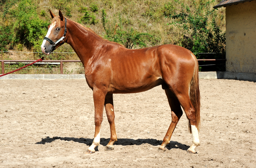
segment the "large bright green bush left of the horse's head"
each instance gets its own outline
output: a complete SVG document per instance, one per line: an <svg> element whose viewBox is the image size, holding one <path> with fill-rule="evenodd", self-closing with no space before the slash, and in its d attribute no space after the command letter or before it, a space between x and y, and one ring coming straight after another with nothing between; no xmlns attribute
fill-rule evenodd
<svg viewBox="0 0 256 168"><path fill-rule="evenodd" d="M6 40L1 42L2 48L8 44L14 46L18 43L31 48L38 40L41 40L43 34L47 33L49 23L38 18L36 6L31 0L20 0L17 5L13 5L5 12L14 20L10 26L1 28L6 33L5 35L2 34L2 38Z"/></svg>

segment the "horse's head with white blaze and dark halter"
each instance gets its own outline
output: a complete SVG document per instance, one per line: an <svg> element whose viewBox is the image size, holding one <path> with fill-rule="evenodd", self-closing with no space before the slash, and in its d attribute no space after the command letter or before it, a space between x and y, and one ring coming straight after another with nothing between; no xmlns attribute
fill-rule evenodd
<svg viewBox="0 0 256 168"><path fill-rule="evenodd" d="M64 43L67 32L67 20L63 17L61 11L59 10L59 16L54 15L51 10L49 11L52 23L48 26L48 32L41 45L41 50L45 55L51 54L53 50Z"/></svg>

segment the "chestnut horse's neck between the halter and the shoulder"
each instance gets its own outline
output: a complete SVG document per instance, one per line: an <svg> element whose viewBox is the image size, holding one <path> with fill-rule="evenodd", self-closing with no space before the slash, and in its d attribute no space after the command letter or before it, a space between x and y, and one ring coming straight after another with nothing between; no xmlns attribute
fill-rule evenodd
<svg viewBox="0 0 256 168"><path fill-rule="evenodd" d="M74 49L79 59L85 65L94 53L97 52L96 50L99 48L99 45L103 45L105 41L73 22L71 25L70 33L67 33L67 43Z"/></svg>

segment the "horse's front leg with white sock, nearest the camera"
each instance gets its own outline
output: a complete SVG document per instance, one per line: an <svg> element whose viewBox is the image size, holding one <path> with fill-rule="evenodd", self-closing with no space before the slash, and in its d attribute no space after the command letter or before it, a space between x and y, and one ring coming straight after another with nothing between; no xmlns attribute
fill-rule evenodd
<svg viewBox="0 0 256 168"><path fill-rule="evenodd" d="M100 144L100 126L103 117L104 101L107 91L102 91L98 88L93 88L94 101L94 119L95 119L95 133L92 145L88 148L87 153L94 153L94 148Z"/></svg>

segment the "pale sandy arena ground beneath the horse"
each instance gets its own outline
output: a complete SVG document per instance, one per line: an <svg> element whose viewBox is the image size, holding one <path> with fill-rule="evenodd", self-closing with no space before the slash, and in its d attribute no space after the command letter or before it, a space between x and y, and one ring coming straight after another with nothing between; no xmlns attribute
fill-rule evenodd
<svg viewBox="0 0 256 168"><path fill-rule="evenodd" d="M0 167L256 167L256 83L200 79L201 145L192 143L185 113L167 145L171 123L161 86L115 94L115 149L103 113L100 146L94 136L92 90L85 80L0 80Z"/></svg>

